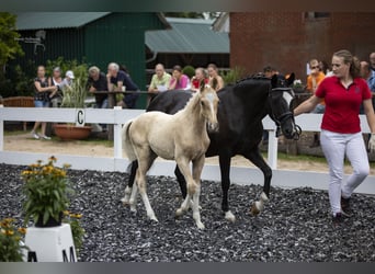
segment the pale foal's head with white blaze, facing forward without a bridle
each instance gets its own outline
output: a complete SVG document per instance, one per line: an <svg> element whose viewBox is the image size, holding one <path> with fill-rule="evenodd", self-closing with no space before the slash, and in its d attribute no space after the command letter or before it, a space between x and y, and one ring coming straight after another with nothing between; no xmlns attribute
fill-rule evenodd
<svg viewBox="0 0 375 274"><path fill-rule="evenodd" d="M211 133L218 132L217 107L219 99L216 91L209 84L202 84L200 90L201 112L207 121L207 129Z"/></svg>

